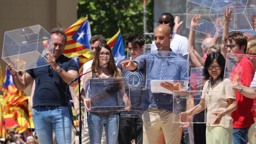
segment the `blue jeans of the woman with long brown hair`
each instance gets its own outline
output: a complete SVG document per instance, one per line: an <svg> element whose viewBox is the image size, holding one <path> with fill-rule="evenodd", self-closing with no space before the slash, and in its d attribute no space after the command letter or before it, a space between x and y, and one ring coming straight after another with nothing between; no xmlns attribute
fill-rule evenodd
<svg viewBox="0 0 256 144"><path fill-rule="evenodd" d="M106 132L107 144L118 144L119 115L118 113L109 116L97 116L89 114L88 129L90 144L100 143L103 127Z"/></svg>

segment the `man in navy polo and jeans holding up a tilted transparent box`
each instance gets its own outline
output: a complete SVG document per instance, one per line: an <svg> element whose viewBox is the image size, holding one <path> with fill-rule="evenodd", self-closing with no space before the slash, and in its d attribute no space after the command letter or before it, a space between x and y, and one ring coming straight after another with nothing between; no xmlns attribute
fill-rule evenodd
<svg viewBox="0 0 256 144"><path fill-rule="evenodd" d="M67 83L78 75L76 62L63 55L67 36L60 29L50 32L54 38L53 53L47 53L48 61L39 58L37 63L50 65L26 70L22 77L17 75L13 64L8 70L13 76L13 83L20 91L24 90L35 79L33 95L32 116L39 142L53 143L52 131L54 129L58 143L71 143L71 120L68 109L65 89ZM75 86L74 82L71 86Z"/></svg>

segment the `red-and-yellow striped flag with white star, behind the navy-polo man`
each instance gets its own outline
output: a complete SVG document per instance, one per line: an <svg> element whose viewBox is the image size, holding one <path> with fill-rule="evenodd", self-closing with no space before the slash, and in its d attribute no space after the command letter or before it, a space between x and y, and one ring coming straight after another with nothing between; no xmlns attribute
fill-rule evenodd
<svg viewBox="0 0 256 144"><path fill-rule="evenodd" d="M83 54L85 57L90 57L91 30L88 17L79 19L65 30L67 35L67 44L63 54L67 57L74 57Z"/></svg>

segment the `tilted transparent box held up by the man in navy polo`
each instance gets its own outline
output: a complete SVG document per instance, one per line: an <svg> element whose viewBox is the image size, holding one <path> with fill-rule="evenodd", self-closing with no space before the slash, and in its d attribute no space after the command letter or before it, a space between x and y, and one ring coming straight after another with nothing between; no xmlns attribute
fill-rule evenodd
<svg viewBox="0 0 256 144"><path fill-rule="evenodd" d="M40 25L6 31L2 59L16 71L49 65L46 54L53 52L53 44L54 38Z"/></svg>

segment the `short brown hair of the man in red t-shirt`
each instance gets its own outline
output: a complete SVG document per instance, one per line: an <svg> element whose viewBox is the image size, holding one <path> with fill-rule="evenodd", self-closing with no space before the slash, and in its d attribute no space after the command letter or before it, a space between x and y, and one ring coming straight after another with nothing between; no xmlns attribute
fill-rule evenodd
<svg viewBox="0 0 256 144"><path fill-rule="evenodd" d="M241 46L245 45L244 48L244 53L246 53L246 48L247 48L247 37L244 36L242 33L232 33L230 35L225 36L225 43L229 41L232 43L232 40L239 45L239 49L241 49Z"/></svg>

